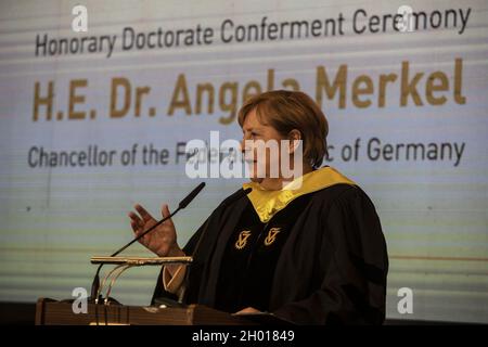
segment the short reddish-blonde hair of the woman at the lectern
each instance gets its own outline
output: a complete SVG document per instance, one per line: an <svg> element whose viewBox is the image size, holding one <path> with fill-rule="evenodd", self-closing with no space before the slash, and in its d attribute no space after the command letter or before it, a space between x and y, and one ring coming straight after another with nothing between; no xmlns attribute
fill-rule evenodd
<svg viewBox="0 0 488 347"><path fill-rule="evenodd" d="M283 137L296 129L301 134L304 158L313 167L320 167L328 155L329 125L317 103L300 91L273 90L246 100L239 111L237 121L253 110L260 123L277 129Z"/></svg>

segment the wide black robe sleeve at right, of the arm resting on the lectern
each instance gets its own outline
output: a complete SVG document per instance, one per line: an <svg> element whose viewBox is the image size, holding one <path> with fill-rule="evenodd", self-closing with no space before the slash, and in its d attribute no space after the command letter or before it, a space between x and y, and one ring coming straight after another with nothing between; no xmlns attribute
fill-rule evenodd
<svg viewBox="0 0 488 347"><path fill-rule="evenodd" d="M319 287L274 313L299 324L383 323L388 257L372 202L361 189L350 188L320 220L318 279L310 279Z"/></svg>

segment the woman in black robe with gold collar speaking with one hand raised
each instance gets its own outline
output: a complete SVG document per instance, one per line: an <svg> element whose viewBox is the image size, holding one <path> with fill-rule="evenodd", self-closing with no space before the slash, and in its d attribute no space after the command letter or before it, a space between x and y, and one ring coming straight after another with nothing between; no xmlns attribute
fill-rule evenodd
<svg viewBox="0 0 488 347"><path fill-rule="evenodd" d="M303 92L270 91L244 103L239 124L251 182L183 248L171 220L140 240L160 257L194 257L189 269L163 268L153 299L183 295L187 304L267 311L298 324L383 323L388 258L380 219L354 181L321 167L329 127L320 107ZM257 142L278 143L281 156ZM287 163L300 154L300 174L295 167L291 179L283 153ZM169 215L167 205L162 213ZM129 217L136 235L156 222L140 205Z"/></svg>

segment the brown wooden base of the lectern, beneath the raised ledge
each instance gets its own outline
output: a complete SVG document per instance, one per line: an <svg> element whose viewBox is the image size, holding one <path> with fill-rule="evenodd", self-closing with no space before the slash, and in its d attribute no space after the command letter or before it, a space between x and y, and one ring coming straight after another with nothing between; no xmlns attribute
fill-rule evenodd
<svg viewBox="0 0 488 347"><path fill-rule="evenodd" d="M142 307L88 304L87 313L74 313L72 303L40 298L36 325L249 325L245 318L202 305Z"/></svg>

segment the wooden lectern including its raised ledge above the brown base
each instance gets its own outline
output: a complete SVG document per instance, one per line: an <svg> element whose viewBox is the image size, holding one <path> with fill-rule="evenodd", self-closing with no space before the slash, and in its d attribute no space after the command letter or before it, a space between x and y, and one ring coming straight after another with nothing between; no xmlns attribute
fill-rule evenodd
<svg viewBox="0 0 488 347"><path fill-rule="evenodd" d="M133 241L132 241L133 242ZM129 243L130 245L130 243ZM127 246L125 246L127 247ZM123 250L123 247L120 250ZM114 255L118 254L117 250ZM111 290L117 278L127 269L140 266L160 266L168 264L191 264L192 257L92 257L91 262L98 264L94 283L99 282L99 272L103 265L111 264L116 267L97 286L97 295L101 297L102 288L106 282L111 282L106 291L110 298ZM112 281L108 281L112 277ZM118 303L101 300L99 304L87 304L87 313L75 313L73 300L56 301L48 298L39 298L36 306L36 325L252 325L252 324L283 324L287 323L271 313L232 316L227 312L203 305L189 305L181 307L165 306L124 306ZM256 316L253 319L253 316Z"/></svg>

